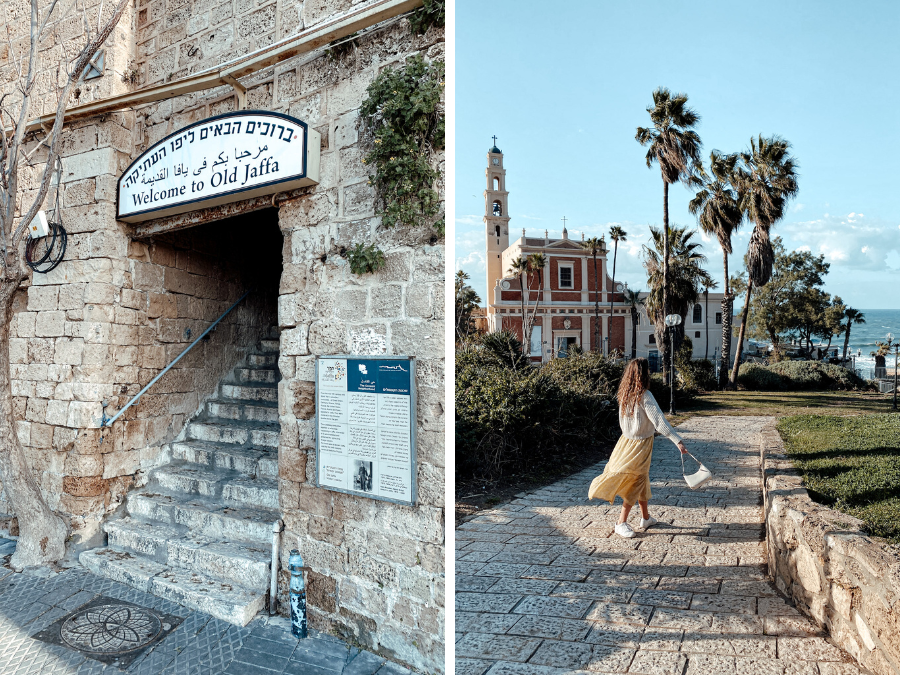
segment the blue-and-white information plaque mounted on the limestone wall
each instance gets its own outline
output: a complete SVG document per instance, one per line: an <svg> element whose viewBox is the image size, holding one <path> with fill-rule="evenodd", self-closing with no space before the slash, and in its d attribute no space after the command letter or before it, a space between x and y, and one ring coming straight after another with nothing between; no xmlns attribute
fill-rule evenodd
<svg viewBox="0 0 900 675"><path fill-rule="evenodd" d="M416 361L316 358L316 484L416 503Z"/></svg>

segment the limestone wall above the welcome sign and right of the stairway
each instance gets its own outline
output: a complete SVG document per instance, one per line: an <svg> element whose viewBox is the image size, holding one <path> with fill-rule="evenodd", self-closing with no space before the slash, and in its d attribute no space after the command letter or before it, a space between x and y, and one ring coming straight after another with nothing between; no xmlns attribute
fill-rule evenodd
<svg viewBox="0 0 900 675"><path fill-rule="evenodd" d="M195 3L191 17L182 21L167 18L162 2L151 3L158 13L148 10L148 17L155 18L152 26L139 29L138 54L146 56L150 78L157 77L157 59L169 59L168 64L176 55L183 59L179 67L188 68L177 74L194 72L198 66L185 65L193 64L187 59L214 63L243 53L248 46L239 37L220 44L212 36L222 31L236 35L251 15L269 17L254 39L270 33L280 37L289 26L308 27L352 4L358 3L238 0L221 5L220 14L214 6ZM222 18L228 11L233 16ZM176 21L181 21L177 30ZM199 53L194 52L197 45ZM405 19L392 22L340 54L320 51L295 58L242 82L248 88L248 108L286 112L322 134L320 184L275 200L284 235L278 302L283 378L279 492L286 529L280 589L287 589L288 553L299 548L313 569L313 626L350 636L417 668L442 672L444 246L434 231L381 227L358 128L366 87L381 69L398 66L412 54L442 60L443 31L414 36ZM191 122L234 109L227 87L146 106L135 121L136 151ZM435 165L443 175L443 155ZM437 187L443 194L443 179ZM371 241L385 252L387 265L377 274L358 277L342 251ZM315 357L338 353L417 357L417 506L315 487ZM280 607L287 611L286 596L281 599Z"/></svg>

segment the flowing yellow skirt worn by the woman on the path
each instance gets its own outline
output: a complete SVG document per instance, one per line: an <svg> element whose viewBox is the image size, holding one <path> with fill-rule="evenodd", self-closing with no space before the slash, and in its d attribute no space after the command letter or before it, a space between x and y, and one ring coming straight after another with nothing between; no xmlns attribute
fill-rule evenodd
<svg viewBox="0 0 900 675"><path fill-rule="evenodd" d="M591 481L588 499L605 499L612 504L616 495L626 504L648 501L650 494L650 456L653 436L633 439L622 436L603 473Z"/></svg>

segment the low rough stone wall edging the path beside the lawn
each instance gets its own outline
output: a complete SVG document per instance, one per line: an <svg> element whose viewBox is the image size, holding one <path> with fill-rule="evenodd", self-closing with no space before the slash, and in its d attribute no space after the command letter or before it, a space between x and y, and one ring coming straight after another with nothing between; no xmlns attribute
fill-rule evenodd
<svg viewBox="0 0 900 675"><path fill-rule="evenodd" d="M769 573L877 675L900 673L900 557L862 521L813 502L774 426L761 439Z"/></svg>

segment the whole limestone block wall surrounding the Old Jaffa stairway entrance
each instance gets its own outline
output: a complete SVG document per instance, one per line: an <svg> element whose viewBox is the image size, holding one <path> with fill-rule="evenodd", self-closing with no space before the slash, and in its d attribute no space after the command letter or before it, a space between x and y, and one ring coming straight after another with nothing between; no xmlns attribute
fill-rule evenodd
<svg viewBox="0 0 900 675"><path fill-rule="evenodd" d="M139 0L132 36L139 83L158 84L216 65L358 4ZM242 80L248 108L291 114L322 135L320 184L271 202L279 207L283 235L281 256L272 257L283 270L276 314L283 377L282 561L286 565L288 551L299 548L313 569L313 626L432 672L444 669L444 245L434 230L381 226L370 169L362 162L358 109L383 68L413 54L442 60L443 37L438 29L415 36L401 19L360 35L345 49L295 57ZM134 239L142 236L141 228L115 220L116 180L150 144L235 105L233 90L219 87L67 129L64 222L72 252L23 293L14 321L14 368L16 414L23 420L29 459L45 495L69 516L80 540L96 535L103 514L143 479L143 471L165 460L160 448L199 408L220 366L239 356L235 351L211 362L187 361L185 371L203 364L203 372L179 374L173 391L145 397L100 442L101 401L117 409L158 372L162 359L178 351L186 328L196 335L238 292L232 281L223 286L227 293L210 283L211 275L225 271L209 264L213 252L202 248L202 237L188 234L199 228L184 230L180 240L171 232ZM443 154L434 163L443 176ZM443 178L436 187L443 195ZM257 209L260 201L210 209L202 219ZM174 228L176 221L178 227L187 223L176 217L168 225ZM167 222L154 226L165 231ZM352 274L342 253L358 242L375 242L386 267L363 277ZM173 303L176 295L186 297ZM235 343L251 340L259 322L248 321L248 330L229 333ZM69 356L78 349L80 355ZM338 353L416 357L416 506L314 487L313 368L317 355ZM8 508L0 502L0 512ZM281 608L286 611L287 603Z"/></svg>

